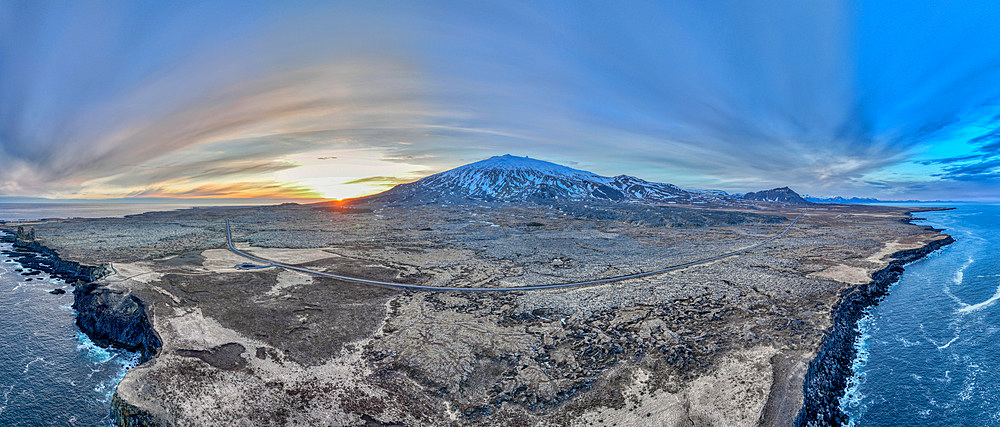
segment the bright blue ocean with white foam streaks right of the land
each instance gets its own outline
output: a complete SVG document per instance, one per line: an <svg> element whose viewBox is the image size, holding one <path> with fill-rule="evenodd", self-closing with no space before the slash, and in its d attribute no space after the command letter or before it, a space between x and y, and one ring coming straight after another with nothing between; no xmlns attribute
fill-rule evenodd
<svg viewBox="0 0 1000 427"><path fill-rule="evenodd" d="M1000 426L1000 206L916 216L956 242L869 309L841 408L855 426Z"/></svg>

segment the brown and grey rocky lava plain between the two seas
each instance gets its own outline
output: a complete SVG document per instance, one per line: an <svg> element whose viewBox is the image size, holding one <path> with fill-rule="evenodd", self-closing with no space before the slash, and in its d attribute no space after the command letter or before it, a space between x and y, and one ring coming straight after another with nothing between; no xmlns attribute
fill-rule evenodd
<svg viewBox="0 0 1000 427"><path fill-rule="evenodd" d="M225 219L261 257L483 288L702 259L777 234L803 208L361 200L4 227L90 275L75 292L81 318L111 319L90 333L127 324L135 348L155 346L118 387L123 425L789 425L815 409L803 410L804 390L830 384L810 363L834 352L845 295L898 270L893 254L946 236L901 208L813 205L736 257L602 286L472 294L239 270L247 260L225 249ZM143 313L148 323L129 323Z"/></svg>

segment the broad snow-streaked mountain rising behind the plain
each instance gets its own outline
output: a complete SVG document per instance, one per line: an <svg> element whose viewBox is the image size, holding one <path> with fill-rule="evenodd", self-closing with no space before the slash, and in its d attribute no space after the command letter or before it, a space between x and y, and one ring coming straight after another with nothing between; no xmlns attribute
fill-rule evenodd
<svg viewBox="0 0 1000 427"><path fill-rule="evenodd" d="M722 193L725 194L725 193ZM529 201L546 199L684 203L726 198L689 192L636 177L606 177L555 163L509 154L428 176L372 196L391 201Z"/></svg>

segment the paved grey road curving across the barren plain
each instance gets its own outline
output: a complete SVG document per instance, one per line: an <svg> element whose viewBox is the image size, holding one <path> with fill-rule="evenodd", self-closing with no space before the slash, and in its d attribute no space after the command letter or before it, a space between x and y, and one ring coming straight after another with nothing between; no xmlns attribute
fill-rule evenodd
<svg viewBox="0 0 1000 427"><path fill-rule="evenodd" d="M806 213L805 211L802 211L802 213L800 213L799 216L795 217L795 219L792 221L791 224L788 224L788 227L786 227L781 233L778 233L777 235L771 237L770 239L767 239L767 240L765 240L763 242L760 242L760 243L758 243L756 245L753 245L753 246L748 246L746 248L743 248L743 249L740 249L740 250L736 250L736 251L732 251L732 252L726 252L726 253L724 253L722 255L714 256L714 257L711 257L711 258L705 258L705 259L700 259L698 261L692 261L692 262L688 262L688 263L684 263L684 264L673 265L673 266L670 266L670 267L667 267L667 268L663 268L663 269L660 269L660 270L647 271L647 272L635 273L635 274L626 274L624 276L607 277L607 278L604 278L604 279L588 280L588 281L584 281L584 282L553 283L553 284L548 284L548 285L515 286L515 287L508 287L508 288L455 288L455 287L447 287L447 286L409 285L409 284L406 284L406 283L383 282L383 281L379 281L379 280L369 280L369 279L362 279L362 278L358 278L358 277L342 276L342 275L339 275L339 274L324 273L324 272L321 272L321 271L315 271L315 270L309 270L307 268L296 267L294 265L282 264L282 263L277 262L277 261L272 261L272 260L269 260L269 259L265 259L265 258L261 258L261 257L256 257L256 256L250 255L250 254L248 254L246 252L243 252L243 251L241 251L239 249L236 249L236 247L233 246L233 234L232 234L232 231L229 228L229 220L228 219L226 220L226 243L229 245L229 250L235 252L236 254L238 254L240 256L249 258L249 259L254 260L256 262L259 262L259 263L266 264L266 266L281 267L281 268L286 268L286 269L293 270L293 271L299 271L299 272L306 273L306 274L314 274L314 275L323 276L323 277L332 277L334 279L339 279L339 280L343 280L343 281L347 281L347 282L364 283L364 284L368 284L368 285L377 285L377 286L385 286L385 287L389 287L389 288L404 289L404 290L409 290L409 291L450 291L450 292L537 291L537 290L543 290L543 289L575 288L575 287L580 287L580 286L600 285L600 284L604 284L604 283L617 282L617 281L621 281L621 280L636 279L636 278L639 278L639 277L652 276L654 274L662 274L662 273L666 273L668 271L674 271L674 270L680 270L682 268L693 267L693 266L700 265L700 264L707 264L707 263L710 263L712 261L717 261L717 260L720 260L720 259L723 259L723 258L729 258L731 256L739 255L739 254L741 254L743 252L759 248L759 247L764 246L764 245L766 245L768 243L771 243L772 241L774 241L775 239L777 239L777 238L779 238L781 236L784 236L785 233L787 233L788 230L791 230L792 226L795 225L795 223L799 221L799 218L802 218L802 215L805 215L805 213Z"/></svg>

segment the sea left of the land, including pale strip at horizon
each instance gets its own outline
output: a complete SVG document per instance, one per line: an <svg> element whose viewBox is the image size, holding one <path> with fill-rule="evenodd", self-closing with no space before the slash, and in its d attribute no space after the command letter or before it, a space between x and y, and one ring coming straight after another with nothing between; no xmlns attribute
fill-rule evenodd
<svg viewBox="0 0 1000 427"><path fill-rule="evenodd" d="M0 203L0 220L121 217L186 207ZM0 243L3 249L10 244ZM72 286L19 269L0 254L0 426L111 425L111 397L139 355L95 345L74 323ZM49 293L53 289L66 294Z"/></svg>

